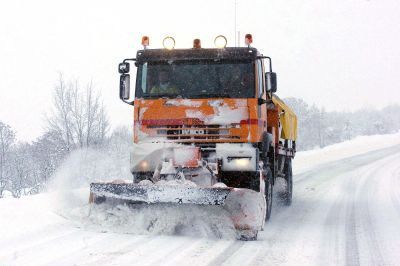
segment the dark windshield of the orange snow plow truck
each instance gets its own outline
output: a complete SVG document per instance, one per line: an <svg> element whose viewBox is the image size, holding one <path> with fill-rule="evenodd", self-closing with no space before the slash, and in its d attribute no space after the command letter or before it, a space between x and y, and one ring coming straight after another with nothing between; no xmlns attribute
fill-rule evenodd
<svg viewBox="0 0 400 266"><path fill-rule="evenodd" d="M147 62L139 65L136 98L254 98L252 61Z"/></svg>

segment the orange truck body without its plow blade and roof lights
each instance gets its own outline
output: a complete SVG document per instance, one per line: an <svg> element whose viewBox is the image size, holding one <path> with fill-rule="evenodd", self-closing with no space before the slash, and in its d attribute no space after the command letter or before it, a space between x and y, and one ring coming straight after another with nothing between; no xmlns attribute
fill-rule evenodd
<svg viewBox="0 0 400 266"><path fill-rule="evenodd" d="M131 100L129 61L137 67ZM179 173L272 191L281 176L291 201L297 120L274 95L270 57L252 47L143 49L119 72L120 98L134 106L134 182Z"/></svg>

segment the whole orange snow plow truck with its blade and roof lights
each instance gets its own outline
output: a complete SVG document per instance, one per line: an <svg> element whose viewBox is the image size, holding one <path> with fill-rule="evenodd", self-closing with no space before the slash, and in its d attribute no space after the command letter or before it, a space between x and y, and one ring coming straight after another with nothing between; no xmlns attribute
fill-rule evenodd
<svg viewBox="0 0 400 266"><path fill-rule="evenodd" d="M292 201L297 118L280 100L272 60L251 47L144 48L119 64L120 99L134 106L132 181L90 184L90 203L218 205L239 239L256 240L271 216L273 186ZM136 66L130 97L130 62Z"/></svg>

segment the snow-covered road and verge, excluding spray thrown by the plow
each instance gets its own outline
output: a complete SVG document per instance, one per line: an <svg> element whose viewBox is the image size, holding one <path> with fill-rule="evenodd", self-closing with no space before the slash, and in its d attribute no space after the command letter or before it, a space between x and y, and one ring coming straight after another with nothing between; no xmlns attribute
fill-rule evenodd
<svg viewBox="0 0 400 266"><path fill-rule="evenodd" d="M400 265L400 146L349 154L300 156L293 204L275 199L254 242L88 230L48 194L0 199L0 265Z"/></svg>

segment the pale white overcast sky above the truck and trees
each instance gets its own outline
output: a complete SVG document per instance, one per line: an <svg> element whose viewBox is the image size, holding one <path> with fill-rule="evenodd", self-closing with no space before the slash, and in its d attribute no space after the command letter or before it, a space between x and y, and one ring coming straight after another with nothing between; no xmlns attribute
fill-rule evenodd
<svg viewBox="0 0 400 266"><path fill-rule="evenodd" d="M118 98L118 63L134 57L142 35L151 48L216 35L234 45L234 0L1 0L0 120L34 140L58 73L92 80L113 126L131 123ZM400 103L400 1L237 0L237 30L273 58L278 94L327 110ZM243 43L243 41L241 41Z"/></svg>

